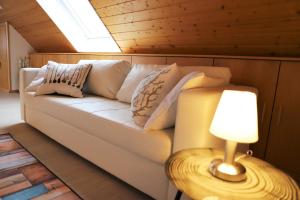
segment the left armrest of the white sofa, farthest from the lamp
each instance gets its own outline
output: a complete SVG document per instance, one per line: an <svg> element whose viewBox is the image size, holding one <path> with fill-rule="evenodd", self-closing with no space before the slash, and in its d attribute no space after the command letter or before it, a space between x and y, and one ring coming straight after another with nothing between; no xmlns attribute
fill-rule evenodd
<svg viewBox="0 0 300 200"><path fill-rule="evenodd" d="M21 119L25 120L25 104L24 104L24 92L25 88L31 83L34 77L38 74L40 68L22 68L20 70L20 82L19 82L19 92L20 92L20 109L21 109Z"/></svg>

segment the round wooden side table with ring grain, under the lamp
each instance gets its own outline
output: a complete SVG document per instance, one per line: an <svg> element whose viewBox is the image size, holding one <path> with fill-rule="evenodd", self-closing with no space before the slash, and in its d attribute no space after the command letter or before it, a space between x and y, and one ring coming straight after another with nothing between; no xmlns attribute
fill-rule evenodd
<svg viewBox="0 0 300 200"><path fill-rule="evenodd" d="M192 199L293 199L300 200L296 182L260 159L236 154L247 172L243 182L227 182L213 177L208 166L215 158L224 158L222 151L188 149L173 154L166 163L166 174L181 192Z"/></svg>

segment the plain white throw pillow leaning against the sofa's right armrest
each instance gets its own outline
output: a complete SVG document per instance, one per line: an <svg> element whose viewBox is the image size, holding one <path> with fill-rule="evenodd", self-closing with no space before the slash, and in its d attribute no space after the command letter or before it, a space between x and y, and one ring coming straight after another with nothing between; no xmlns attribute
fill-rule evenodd
<svg viewBox="0 0 300 200"><path fill-rule="evenodd" d="M216 87L229 84L229 80L211 78L203 72L192 72L184 76L170 93L163 99L151 117L146 122L144 129L160 130L175 125L177 99L182 90L198 87Z"/></svg>

